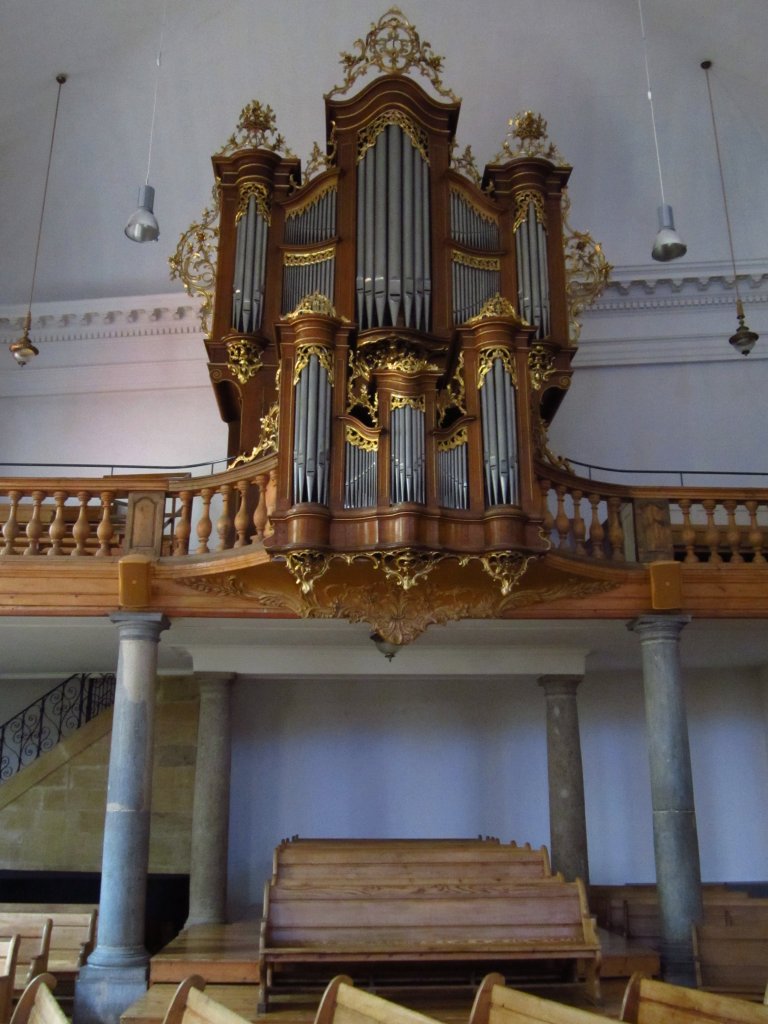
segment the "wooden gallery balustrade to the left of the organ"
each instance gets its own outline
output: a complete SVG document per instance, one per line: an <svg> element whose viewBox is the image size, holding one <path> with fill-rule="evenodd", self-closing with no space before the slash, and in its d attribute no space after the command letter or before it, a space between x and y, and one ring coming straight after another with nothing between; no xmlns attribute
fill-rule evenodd
<svg viewBox="0 0 768 1024"><path fill-rule="evenodd" d="M138 547L132 513L139 502L162 507L162 527L152 530L148 544L158 556L204 555L260 543L272 532L275 461L270 457L207 477L0 479L0 558L127 554ZM144 535L140 547L147 547Z"/></svg>

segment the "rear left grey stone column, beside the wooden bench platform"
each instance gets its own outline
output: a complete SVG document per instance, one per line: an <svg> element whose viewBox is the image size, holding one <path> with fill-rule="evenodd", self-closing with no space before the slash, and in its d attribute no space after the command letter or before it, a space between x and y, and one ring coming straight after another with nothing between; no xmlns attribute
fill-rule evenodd
<svg viewBox="0 0 768 1024"><path fill-rule="evenodd" d="M236 677L210 672L200 681L198 759L189 865L190 925L226 921L226 867L229 838L231 729L230 683Z"/></svg>

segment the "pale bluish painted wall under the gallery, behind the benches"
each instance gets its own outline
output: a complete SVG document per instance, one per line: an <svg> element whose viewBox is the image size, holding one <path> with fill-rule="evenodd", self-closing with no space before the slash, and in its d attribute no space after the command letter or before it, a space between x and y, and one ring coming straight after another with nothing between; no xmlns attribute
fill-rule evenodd
<svg viewBox="0 0 768 1024"><path fill-rule="evenodd" d="M768 748L758 677L685 681L705 881L765 878ZM240 680L232 693L229 901L257 915L285 838L498 836L549 847L536 680ZM642 680L579 689L590 874L655 878Z"/></svg>

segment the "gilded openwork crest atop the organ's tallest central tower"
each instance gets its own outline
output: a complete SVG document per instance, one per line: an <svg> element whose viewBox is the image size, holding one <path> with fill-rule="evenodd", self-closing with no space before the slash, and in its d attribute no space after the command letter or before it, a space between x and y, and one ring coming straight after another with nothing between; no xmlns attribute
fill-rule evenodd
<svg viewBox="0 0 768 1024"><path fill-rule="evenodd" d="M344 69L344 84L335 85L326 98L344 95L357 79L372 68L386 75L406 75L418 71L429 80L441 96L459 102L459 97L445 88L439 77L443 58L432 51L430 43L421 41L419 33L404 17L399 7L390 7L378 22L371 25L365 39L352 44L356 53L342 52L340 62Z"/></svg>

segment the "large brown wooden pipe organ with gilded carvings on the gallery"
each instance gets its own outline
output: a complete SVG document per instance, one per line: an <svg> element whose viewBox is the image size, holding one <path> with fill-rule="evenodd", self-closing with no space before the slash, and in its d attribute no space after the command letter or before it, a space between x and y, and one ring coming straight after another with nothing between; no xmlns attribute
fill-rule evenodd
<svg viewBox="0 0 768 1024"><path fill-rule="evenodd" d="M529 112L482 174L455 160L460 101L396 8L358 46L303 177L255 101L214 157L229 454L276 453L275 554L542 552L531 467L575 350L570 168Z"/></svg>

